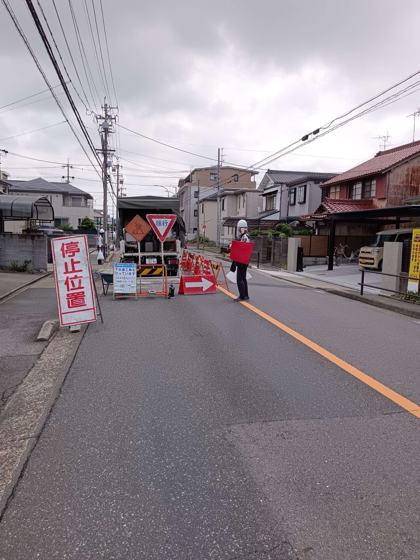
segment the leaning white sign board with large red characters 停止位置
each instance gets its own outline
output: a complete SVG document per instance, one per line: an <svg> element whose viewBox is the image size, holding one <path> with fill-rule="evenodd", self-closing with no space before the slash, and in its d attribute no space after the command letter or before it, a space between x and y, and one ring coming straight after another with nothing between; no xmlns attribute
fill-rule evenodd
<svg viewBox="0 0 420 560"><path fill-rule="evenodd" d="M96 321L86 235L58 237L51 245L61 326Z"/></svg>

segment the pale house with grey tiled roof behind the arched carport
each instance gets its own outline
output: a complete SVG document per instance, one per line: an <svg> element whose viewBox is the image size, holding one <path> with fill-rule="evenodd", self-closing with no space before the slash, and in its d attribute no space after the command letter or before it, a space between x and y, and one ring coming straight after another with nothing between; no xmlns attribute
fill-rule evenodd
<svg viewBox="0 0 420 560"><path fill-rule="evenodd" d="M94 217L92 195L72 184L50 183L41 178L30 181L9 179L8 182L10 183L9 194L39 195L48 198L54 208L54 224L52 225L55 227L68 224L76 230L83 217L88 216L91 220ZM26 227L24 221L6 221L4 224L6 231L19 232L24 227Z"/></svg>

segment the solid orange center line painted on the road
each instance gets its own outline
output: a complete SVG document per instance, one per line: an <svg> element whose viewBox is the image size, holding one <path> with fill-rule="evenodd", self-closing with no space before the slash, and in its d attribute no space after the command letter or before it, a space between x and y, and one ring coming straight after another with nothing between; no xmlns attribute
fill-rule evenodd
<svg viewBox="0 0 420 560"><path fill-rule="evenodd" d="M217 288L221 292L226 293L227 296L230 296L232 298L236 297L235 294L228 292L221 286L217 286ZM264 313L264 311L261 311L260 309L258 309L258 307L254 307L246 301L241 301L241 304L245 307L248 307L248 309L250 309L251 311L254 311L254 313L259 315L263 319L269 321L269 323L272 323L279 329L282 329L285 333L290 334L291 337L296 338L296 340L299 340L299 342L305 344L305 346L311 348L321 356L324 356L324 358L326 358L330 362L335 363L335 365L342 368L342 370L347 371L349 374L353 375L353 377L356 377L358 380L362 381L372 389L375 389L375 391L377 391L381 395L386 396L386 398L392 400L395 404L398 404L400 407L407 410L407 412L410 412L411 414L414 414L414 416L417 416L417 418L420 418L420 407L418 404L413 403L409 399L406 399L405 396L400 395L399 393L395 393L395 391L380 383L379 381L376 381L376 379L374 379L370 375L366 375L365 373L363 373L363 371L358 370L356 367L353 367L338 356L335 356L335 354L329 352L322 346L319 346L319 344L316 344L309 338L304 337L304 335L297 333L296 330L291 329L287 325L283 325L283 323L280 323L280 321L278 321L277 319L273 319L273 317L270 317L270 315L267 315L267 313Z"/></svg>

